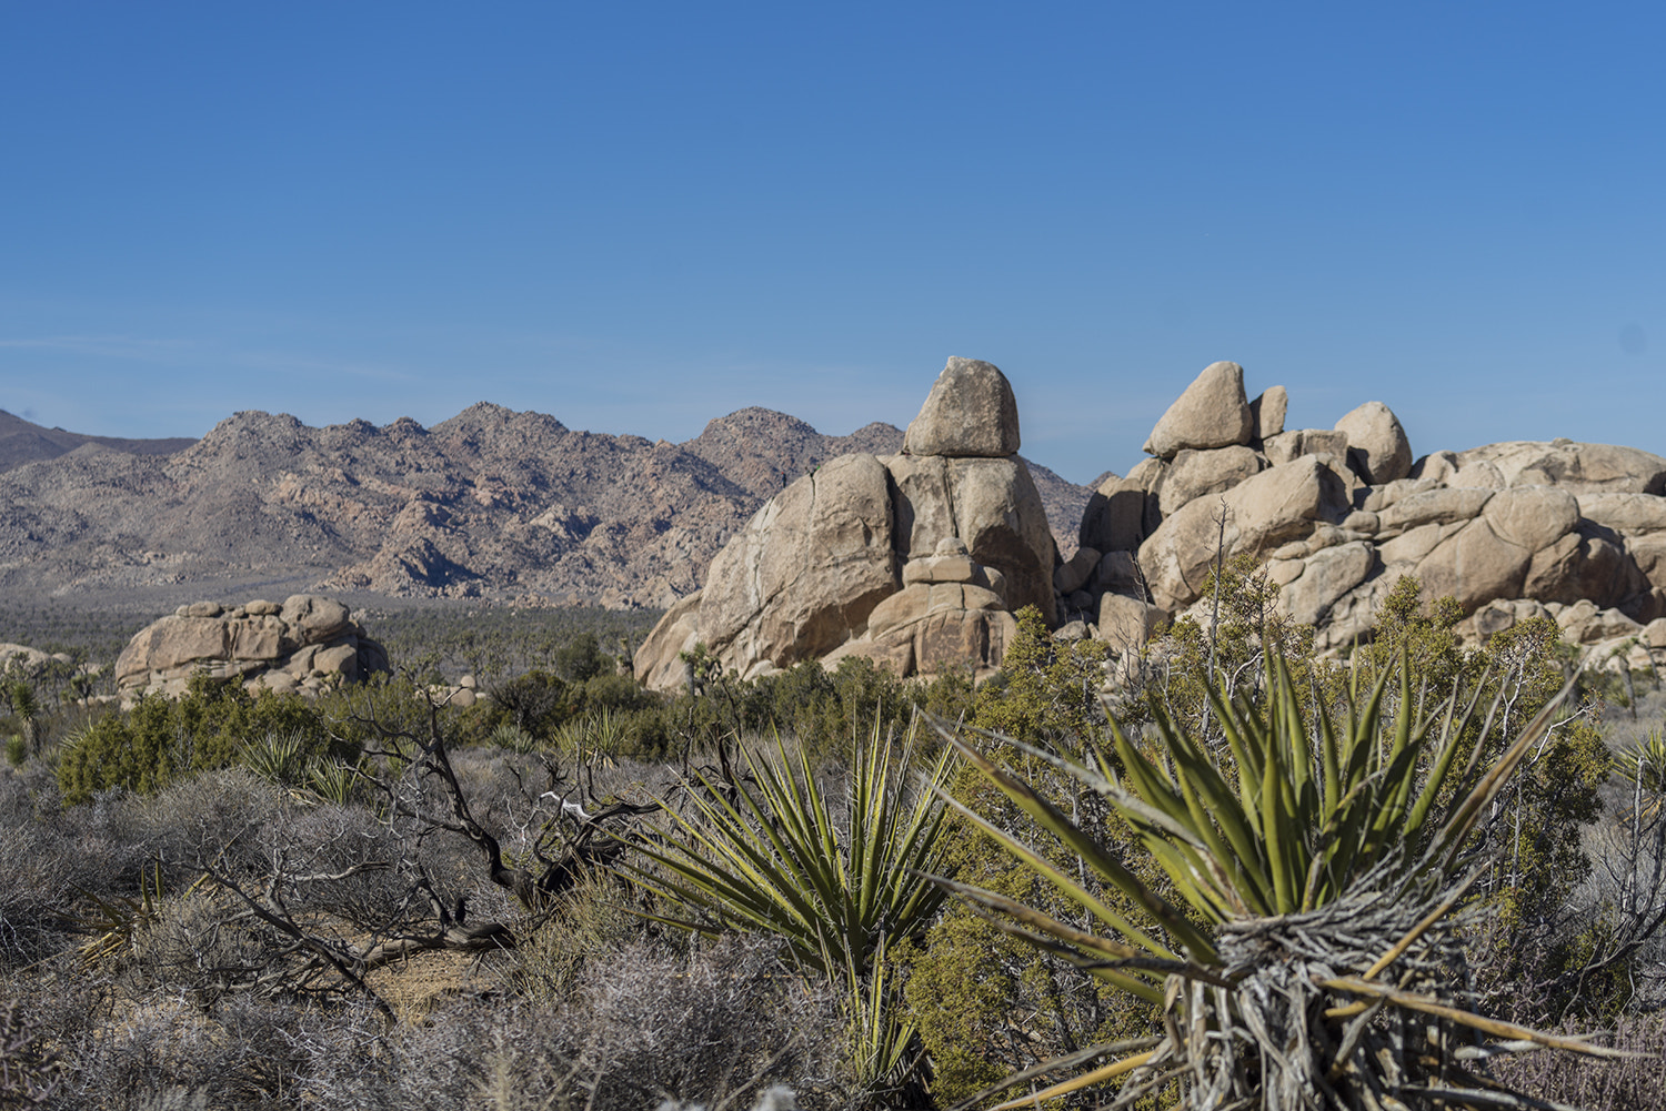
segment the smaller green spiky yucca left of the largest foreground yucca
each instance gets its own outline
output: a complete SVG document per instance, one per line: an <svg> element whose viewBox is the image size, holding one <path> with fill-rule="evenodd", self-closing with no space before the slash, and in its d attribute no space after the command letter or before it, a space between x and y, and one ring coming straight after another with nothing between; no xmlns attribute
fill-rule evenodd
<svg viewBox="0 0 1666 1111"><path fill-rule="evenodd" d="M953 753L945 748L910 785L913 753L875 725L855 746L840 808L803 748L788 755L776 736L773 753L745 753L748 775L735 783L696 773L686 815L666 803L665 828L630 836L651 864L623 864L670 904L651 914L656 921L771 934L801 968L841 981L858 1071L876 1084L898 1083L918 1058L886 951L945 898L930 879L945 848L945 808L933 790L948 783Z"/></svg>

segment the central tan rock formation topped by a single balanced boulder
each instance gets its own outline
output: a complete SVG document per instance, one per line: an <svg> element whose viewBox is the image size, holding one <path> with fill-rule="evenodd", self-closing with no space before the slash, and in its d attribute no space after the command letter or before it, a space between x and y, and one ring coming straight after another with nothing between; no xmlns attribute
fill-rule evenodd
<svg viewBox="0 0 1666 1111"><path fill-rule="evenodd" d="M771 498L636 653L656 690L706 645L746 678L866 656L896 675L988 671L1011 611L1055 620L1056 548L1018 458L1018 403L990 363L951 358L898 455L843 455Z"/></svg>

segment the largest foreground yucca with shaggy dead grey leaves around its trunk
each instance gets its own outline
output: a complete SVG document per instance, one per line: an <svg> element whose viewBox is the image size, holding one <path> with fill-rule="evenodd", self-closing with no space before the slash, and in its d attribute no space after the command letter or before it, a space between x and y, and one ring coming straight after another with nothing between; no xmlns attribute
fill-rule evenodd
<svg viewBox="0 0 1666 1111"><path fill-rule="evenodd" d="M1115 1106L1156 1096L1198 1111L1543 1106L1494 1084L1474 1063L1541 1046L1609 1051L1473 1013L1451 989L1461 961L1454 908L1479 874L1464 874L1471 834L1544 740L1561 696L1486 765L1483 686L1421 713L1403 658L1396 698L1388 698L1394 673L1384 671L1341 711L1318 705L1309 720L1283 661L1266 658L1264 668L1259 705L1230 701L1210 685L1213 743L1161 705L1153 705L1153 743L1130 738L1113 720L1111 751L1098 748L1086 761L998 738L1096 791L1131 828L1126 848L1108 846L945 730L1081 869L1060 868L963 813L1098 928L941 879L945 889L1163 1018L1161 1033L1145 1041L1053 1063L1053 1073L1076 1074L1000 1106L1110 1083L1120 1084ZM1128 849L1151 856L1170 894L1140 879ZM1116 906L1101 893L1113 893ZM1000 1088L1040 1074L1046 1069Z"/></svg>

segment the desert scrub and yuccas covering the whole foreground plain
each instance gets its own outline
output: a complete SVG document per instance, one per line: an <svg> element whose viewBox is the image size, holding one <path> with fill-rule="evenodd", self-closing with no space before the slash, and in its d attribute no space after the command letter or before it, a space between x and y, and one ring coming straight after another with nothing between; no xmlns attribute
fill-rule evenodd
<svg viewBox="0 0 1666 1111"><path fill-rule="evenodd" d="M0 1106L1666 1103L1658 678L1220 596L978 686L433 616L313 701L12 675Z"/></svg>

